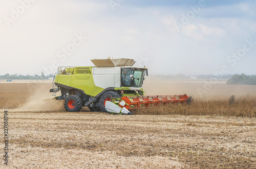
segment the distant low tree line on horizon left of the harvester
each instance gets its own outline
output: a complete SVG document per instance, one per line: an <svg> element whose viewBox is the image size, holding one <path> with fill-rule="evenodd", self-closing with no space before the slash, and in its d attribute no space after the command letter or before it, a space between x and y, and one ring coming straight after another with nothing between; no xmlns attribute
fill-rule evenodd
<svg viewBox="0 0 256 169"><path fill-rule="evenodd" d="M5 75L0 75L0 79L2 80L44 80L44 79L48 79L48 78L53 78L53 74L50 74L49 76L45 76L45 74L43 72L41 72L41 76L38 76L37 74L35 74L34 76L32 75L9 75L9 74L5 74Z"/></svg>

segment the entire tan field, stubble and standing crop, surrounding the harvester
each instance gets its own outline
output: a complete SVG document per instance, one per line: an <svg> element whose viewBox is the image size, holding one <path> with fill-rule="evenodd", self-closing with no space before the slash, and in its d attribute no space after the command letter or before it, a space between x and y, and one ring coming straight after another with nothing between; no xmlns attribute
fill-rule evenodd
<svg viewBox="0 0 256 169"><path fill-rule="evenodd" d="M195 91L203 82L167 81L165 92L145 82L147 94L186 93L195 101L121 116L65 112L49 82L0 83L0 109L9 111L9 168L256 168L254 86L220 82L205 99ZM190 88L181 92L184 86Z"/></svg>

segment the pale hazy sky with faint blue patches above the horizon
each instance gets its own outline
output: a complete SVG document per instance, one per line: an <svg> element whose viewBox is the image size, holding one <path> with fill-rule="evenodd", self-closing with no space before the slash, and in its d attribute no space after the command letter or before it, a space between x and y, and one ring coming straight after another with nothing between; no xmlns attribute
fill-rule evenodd
<svg viewBox="0 0 256 169"><path fill-rule="evenodd" d="M0 75L131 58L149 74L256 74L255 1L1 0Z"/></svg>

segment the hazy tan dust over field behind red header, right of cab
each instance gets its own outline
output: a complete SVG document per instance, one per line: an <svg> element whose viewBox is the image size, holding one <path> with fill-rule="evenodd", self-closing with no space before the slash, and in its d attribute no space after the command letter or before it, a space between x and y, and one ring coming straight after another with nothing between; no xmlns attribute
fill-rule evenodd
<svg viewBox="0 0 256 169"><path fill-rule="evenodd" d="M226 100L231 95L237 97L256 96L255 85L227 85L226 81L218 81L216 84L207 86L207 81L199 80L164 80L146 79L143 89L146 95L187 94L195 99Z"/></svg>

